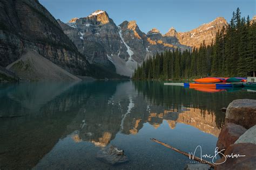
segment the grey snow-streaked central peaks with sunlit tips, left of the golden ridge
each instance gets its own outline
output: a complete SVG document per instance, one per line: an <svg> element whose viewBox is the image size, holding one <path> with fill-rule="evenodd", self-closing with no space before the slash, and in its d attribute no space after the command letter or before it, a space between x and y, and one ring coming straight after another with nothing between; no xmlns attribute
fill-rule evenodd
<svg viewBox="0 0 256 170"><path fill-rule="evenodd" d="M58 22L79 52L88 56L90 63L108 68L114 65L120 75L131 76L139 64L157 52L178 47L190 49L179 44L176 38L152 40L149 34L140 31L135 21L124 21L117 26L102 10L87 17L73 18L66 24Z"/></svg>

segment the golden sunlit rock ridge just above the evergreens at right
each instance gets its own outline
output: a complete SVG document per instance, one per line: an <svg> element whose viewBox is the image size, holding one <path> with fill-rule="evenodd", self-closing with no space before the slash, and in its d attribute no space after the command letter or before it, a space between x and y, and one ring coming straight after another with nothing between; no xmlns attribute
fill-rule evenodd
<svg viewBox="0 0 256 170"><path fill-rule="evenodd" d="M200 47L203 42L210 45L215 40L218 30L227 27L223 17L215 18L212 22L203 24L188 32L177 32L173 27L164 35L165 37L176 37L180 44L190 47Z"/></svg>

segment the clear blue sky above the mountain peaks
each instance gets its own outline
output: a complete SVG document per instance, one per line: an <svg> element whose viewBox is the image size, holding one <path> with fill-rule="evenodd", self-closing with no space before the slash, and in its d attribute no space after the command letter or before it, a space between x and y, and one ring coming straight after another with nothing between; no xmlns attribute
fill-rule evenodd
<svg viewBox="0 0 256 170"><path fill-rule="evenodd" d="M147 33L156 27L166 33L171 27L178 32L195 29L224 17L230 22L238 7L241 16L256 15L256 0L39 0L49 12L63 22L71 18L89 16L93 11L104 10L116 25L125 20L136 20L139 29Z"/></svg>

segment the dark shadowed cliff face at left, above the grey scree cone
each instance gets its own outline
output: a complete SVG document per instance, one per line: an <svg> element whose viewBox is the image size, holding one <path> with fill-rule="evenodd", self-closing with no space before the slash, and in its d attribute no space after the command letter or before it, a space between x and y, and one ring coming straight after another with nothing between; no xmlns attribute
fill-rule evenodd
<svg viewBox="0 0 256 170"><path fill-rule="evenodd" d="M89 63L38 1L0 2L0 65L8 66L26 51L39 55L72 74L90 75Z"/></svg>

